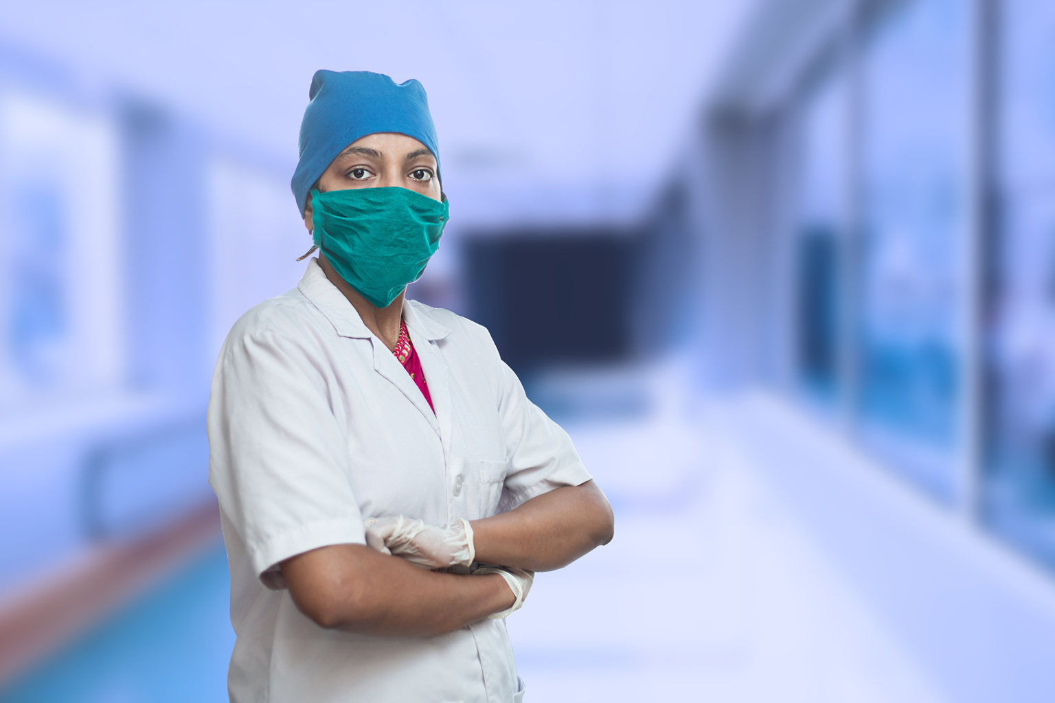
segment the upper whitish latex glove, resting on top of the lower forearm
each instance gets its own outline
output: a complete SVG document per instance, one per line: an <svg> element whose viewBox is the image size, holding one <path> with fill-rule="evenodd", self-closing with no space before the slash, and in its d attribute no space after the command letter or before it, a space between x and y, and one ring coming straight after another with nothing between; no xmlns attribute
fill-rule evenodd
<svg viewBox="0 0 1055 703"><path fill-rule="evenodd" d="M403 515L364 521L366 544L426 569L468 566L476 559L473 528L462 518L442 529Z"/></svg>

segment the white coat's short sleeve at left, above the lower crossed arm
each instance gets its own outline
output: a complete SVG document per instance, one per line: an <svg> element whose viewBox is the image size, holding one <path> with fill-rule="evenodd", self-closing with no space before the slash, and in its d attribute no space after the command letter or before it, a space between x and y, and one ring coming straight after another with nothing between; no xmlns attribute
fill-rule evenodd
<svg viewBox="0 0 1055 703"><path fill-rule="evenodd" d="M282 588L277 564L333 544L365 544L344 433L310 339L232 331L209 399L209 483L256 575Z"/></svg>

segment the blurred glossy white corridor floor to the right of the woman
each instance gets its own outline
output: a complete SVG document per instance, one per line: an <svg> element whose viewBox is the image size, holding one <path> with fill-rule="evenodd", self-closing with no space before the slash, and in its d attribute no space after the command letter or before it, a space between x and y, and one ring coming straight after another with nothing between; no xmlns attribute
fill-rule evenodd
<svg viewBox="0 0 1055 703"><path fill-rule="evenodd" d="M525 700L942 700L711 426L706 412L569 426L616 536L538 574L509 620Z"/></svg>

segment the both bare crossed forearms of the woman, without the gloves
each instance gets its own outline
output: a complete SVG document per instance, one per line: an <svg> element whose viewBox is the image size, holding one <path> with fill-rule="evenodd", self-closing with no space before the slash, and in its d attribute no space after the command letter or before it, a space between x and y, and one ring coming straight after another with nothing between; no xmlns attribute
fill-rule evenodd
<svg viewBox="0 0 1055 703"><path fill-rule="evenodd" d="M612 540L612 508L593 481L475 520L478 561L558 569ZM425 571L364 545L332 545L282 563L296 607L322 627L414 637L459 629L515 600L498 574Z"/></svg>

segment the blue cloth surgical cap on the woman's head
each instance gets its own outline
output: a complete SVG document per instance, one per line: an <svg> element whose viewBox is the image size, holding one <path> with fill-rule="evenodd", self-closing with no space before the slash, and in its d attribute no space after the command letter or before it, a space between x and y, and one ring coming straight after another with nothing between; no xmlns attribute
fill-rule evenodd
<svg viewBox="0 0 1055 703"><path fill-rule="evenodd" d="M368 134L398 132L414 137L428 147L439 168L428 97L418 81L397 84L368 71L316 71L308 98L301 122L301 160L290 183L301 215L308 191L338 154Z"/></svg>

